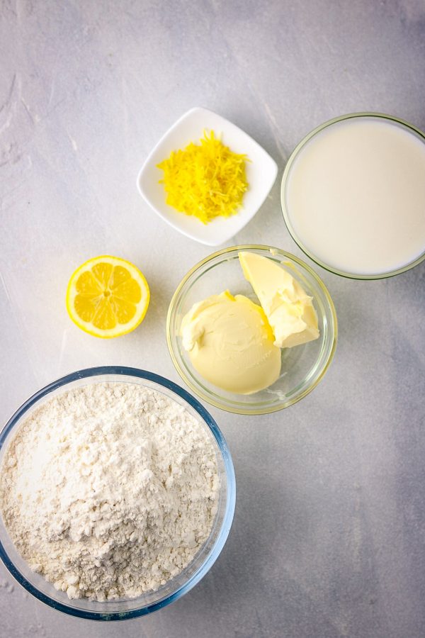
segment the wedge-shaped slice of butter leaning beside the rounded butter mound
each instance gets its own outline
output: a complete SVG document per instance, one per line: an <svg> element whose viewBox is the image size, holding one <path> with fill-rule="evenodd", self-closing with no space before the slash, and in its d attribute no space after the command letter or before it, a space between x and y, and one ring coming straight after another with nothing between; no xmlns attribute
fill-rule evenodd
<svg viewBox="0 0 425 638"><path fill-rule="evenodd" d="M239 252L239 262L266 313L276 346L291 348L319 337L312 298L293 276L254 252Z"/></svg>

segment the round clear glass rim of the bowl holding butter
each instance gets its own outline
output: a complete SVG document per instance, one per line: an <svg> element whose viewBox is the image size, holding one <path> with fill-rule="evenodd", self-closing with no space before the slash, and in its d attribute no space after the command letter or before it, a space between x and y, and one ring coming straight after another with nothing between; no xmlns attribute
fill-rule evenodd
<svg viewBox="0 0 425 638"><path fill-rule="evenodd" d="M181 291L183 290L184 286L186 286L188 279L190 279L191 276L198 271L198 269L203 267L205 264L208 264L208 262L210 262L212 259L215 259L216 257L220 257L221 255L227 254L229 252L240 252L242 250L253 250L253 249L265 250L269 253L273 252L274 254L279 254L281 257L290 259L296 264L298 264L302 269L305 269L313 277L313 279L317 282L317 284L319 284L319 288L322 289L322 292L324 293L324 297L326 298L327 303L329 304L329 309L331 311L332 325L333 325L333 334L332 334L332 344L329 349L329 354L327 355L327 359L324 362L324 366L322 370L319 372L317 378L314 379L314 383L311 384L311 386L308 386L307 388L305 388L305 390L302 391L302 393L300 393L299 396L293 399L290 399L290 401L288 401L284 405L273 405L268 408L246 408L242 410L241 408L232 408L229 405L223 405L222 403L220 403L220 401L216 401L214 398L211 398L208 394L203 393L200 390L200 388L198 388L195 384L193 384L191 379L186 375L185 371L181 368L177 360L177 357L174 354L174 347L173 347L173 342L171 339L171 319L173 318L174 309L176 308L176 302L181 294ZM327 286L324 285L324 282L319 277L319 275L316 272L314 272L314 270L308 264L306 264L302 259L299 259L299 257L296 257L295 254L292 254L280 248L267 246L263 244L243 244L238 246L230 246L227 248L222 248L222 250L217 250L216 252L213 252L212 254L208 255L208 257L201 259L200 262L195 264L186 273L186 275L183 276L183 279L181 279L179 286L177 286L176 291L174 292L174 295L171 298L171 301L169 304L169 310L166 316L166 341L169 347L171 360L174 363L174 366L177 372L181 376L181 379L183 379L183 381L189 386L189 388L191 388L193 392L195 392L200 398L202 398L203 401L207 401L208 403L210 403L210 405L214 405L215 408L220 408L220 410L225 410L226 412L233 413L233 414L243 414L243 415L271 414L273 412L279 412L280 410L283 410L284 408L289 408L290 405L294 405L294 403L301 401L302 398L304 398L305 396L307 396L307 394L310 394L310 392L314 390L314 388L319 384L319 381L322 380L324 374L327 372L327 369L329 368L329 365L331 364L331 361L334 358L337 340L338 340L338 320L336 318L336 310L335 310L334 302L332 301L332 298L329 294Z"/></svg>

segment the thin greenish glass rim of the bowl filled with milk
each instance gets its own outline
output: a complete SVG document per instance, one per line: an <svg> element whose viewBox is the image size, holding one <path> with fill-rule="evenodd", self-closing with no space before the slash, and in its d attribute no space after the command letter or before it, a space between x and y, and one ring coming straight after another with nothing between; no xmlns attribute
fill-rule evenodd
<svg viewBox="0 0 425 638"><path fill-rule="evenodd" d="M289 219L288 206L287 206L287 203L286 203L286 194L287 194L286 191L287 191L287 186L288 186L288 177L289 177L289 174L290 174L290 169L293 166L293 163L295 162L295 159L299 155L300 151L305 147L305 145L307 145L308 142L310 142L310 140L315 135L320 133L322 130L324 130L328 126L334 125L334 124L339 123L339 122L344 121L344 120L350 120L350 119L353 119L353 118L377 118L377 119L387 120L387 121L390 121L390 122L395 122L397 124L401 124L405 128L408 128L408 129L412 130L414 133L416 133L416 135L419 135L419 137L422 138L422 140L425 143L425 133L424 133L424 131L422 131L420 128L417 128L417 126L415 126L414 124L411 124L410 122L408 122L406 120L402 120L402 118L397 118L396 116L388 115L387 113L379 113L379 112L375 112L375 111L359 111L358 113L346 113L346 114L338 116L336 118L331 118L330 120L327 120L326 122L324 122L322 124L319 124L318 126L313 128L310 131L310 133L307 133L307 135L305 135L305 137L302 138L302 140L300 140L300 142L298 142L298 144L295 146L293 152L290 154L288 162L286 163L286 166L285 166L285 170L283 171L282 180L280 182L280 208L281 208L281 211L282 211L283 220L285 222L285 225L286 225L286 228L288 230L288 233L293 238L295 244L297 244L297 246L300 248L300 250L302 250L302 252L305 255L307 255L307 257L312 259L312 262L314 262L314 264L317 264L318 266L324 268L325 270L327 270L328 272L331 272L332 274L336 274L336 275L339 275L341 277L345 277L346 279L356 279L356 280L360 280L360 281L373 281L373 280L376 280L376 279L388 279L389 277L393 277L393 276L395 276L397 274L401 274L402 272L407 272L408 270L411 270L415 266L418 266L419 264L421 264L421 262L423 262L424 259L425 259L425 250L424 250L424 252L422 252L422 254L419 255L419 257L416 257L416 259L414 259L412 262L409 262L409 264L405 264L404 266L402 266L400 268L397 268L395 270L390 270L388 272L382 272L382 273L378 273L378 274L376 274L376 273L374 273L374 274L356 274L356 273L344 271L344 270L341 270L341 269L338 269L338 268L333 268L329 264L327 264L326 262L322 262L322 260L319 259L319 257L317 257L316 255L314 255L314 253L311 252L307 247L305 247L305 245L302 243L300 238L297 237L297 234L295 233L295 230L293 229L293 225L290 223L290 219Z"/></svg>

